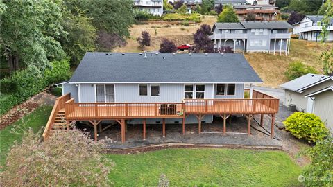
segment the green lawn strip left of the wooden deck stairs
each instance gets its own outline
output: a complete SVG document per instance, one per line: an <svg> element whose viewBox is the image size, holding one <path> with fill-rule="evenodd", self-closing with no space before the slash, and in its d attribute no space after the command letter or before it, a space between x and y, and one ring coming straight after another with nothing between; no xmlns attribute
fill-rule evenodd
<svg viewBox="0 0 333 187"><path fill-rule="evenodd" d="M28 130L29 127L33 129L34 132L38 132L41 127L44 127L49 119L51 113L51 106L42 106L35 109L21 118L19 121L12 123L8 127L0 131L0 165L3 166L6 161L6 154L14 145L15 141L20 141L22 139L22 133Z"/></svg>

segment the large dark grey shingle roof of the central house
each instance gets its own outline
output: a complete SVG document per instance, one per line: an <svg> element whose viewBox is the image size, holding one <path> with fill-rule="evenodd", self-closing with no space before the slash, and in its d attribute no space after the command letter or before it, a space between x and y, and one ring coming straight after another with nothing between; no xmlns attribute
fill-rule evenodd
<svg viewBox="0 0 333 187"><path fill-rule="evenodd" d="M241 54L86 53L69 83L262 82Z"/></svg>

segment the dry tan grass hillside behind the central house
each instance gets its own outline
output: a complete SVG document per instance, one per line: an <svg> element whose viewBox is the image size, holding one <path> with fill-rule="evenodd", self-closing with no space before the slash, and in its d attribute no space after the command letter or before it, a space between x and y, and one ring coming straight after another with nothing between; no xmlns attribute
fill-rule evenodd
<svg viewBox="0 0 333 187"><path fill-rule="evenodd" d="M130 28L131 37L127 39L126 46L114 49L114 52L142 52L137 44L137 37L141 32L146 30L151 35L151 46L144 48L146 51L157 51L160 48L160 42L163 38L172 39L177 45L193 43L193 34L200 27L201 24L209 24L213 26L216 22L216 17L205 16L200 24L195 26L180 26L171 24L142 24L133 25ZM306 42L300 39L291 39L290 54L285 55L272 55L266 53L248 53L245 55L248 62L259 74L260 78L264 80L262 86L278 87L279 84L287 81L284 77L289 63L294 61L304 62L310 66L314 66L321 72L321 63L318 61L321 53L327 49L332 48L333 44L321 44L315 42Z"/></svg>

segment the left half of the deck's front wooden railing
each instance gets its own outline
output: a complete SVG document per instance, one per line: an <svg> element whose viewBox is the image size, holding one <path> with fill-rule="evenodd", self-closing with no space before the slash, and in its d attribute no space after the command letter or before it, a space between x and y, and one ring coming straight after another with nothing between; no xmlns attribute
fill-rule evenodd
<svg viewBox="0 0 333 187"><path fill-rule="evenodd" d="M65 103L68 120L111 118L182 118L185 103Z"/></svg>

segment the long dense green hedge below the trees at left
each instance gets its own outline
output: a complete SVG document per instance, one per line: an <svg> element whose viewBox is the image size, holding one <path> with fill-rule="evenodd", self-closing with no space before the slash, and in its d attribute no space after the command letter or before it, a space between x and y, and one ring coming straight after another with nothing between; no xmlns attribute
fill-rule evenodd
<svg viewBox="0 0 333 187"><path fill-rule="evenodd" d="M42 73L24 69L15 72L10 78L3 78L0 80L0 114L5 114L14 105L38 94L49 84L67 80L69 77L69 60L62 60L51 62L51 68Z"/></svg>

